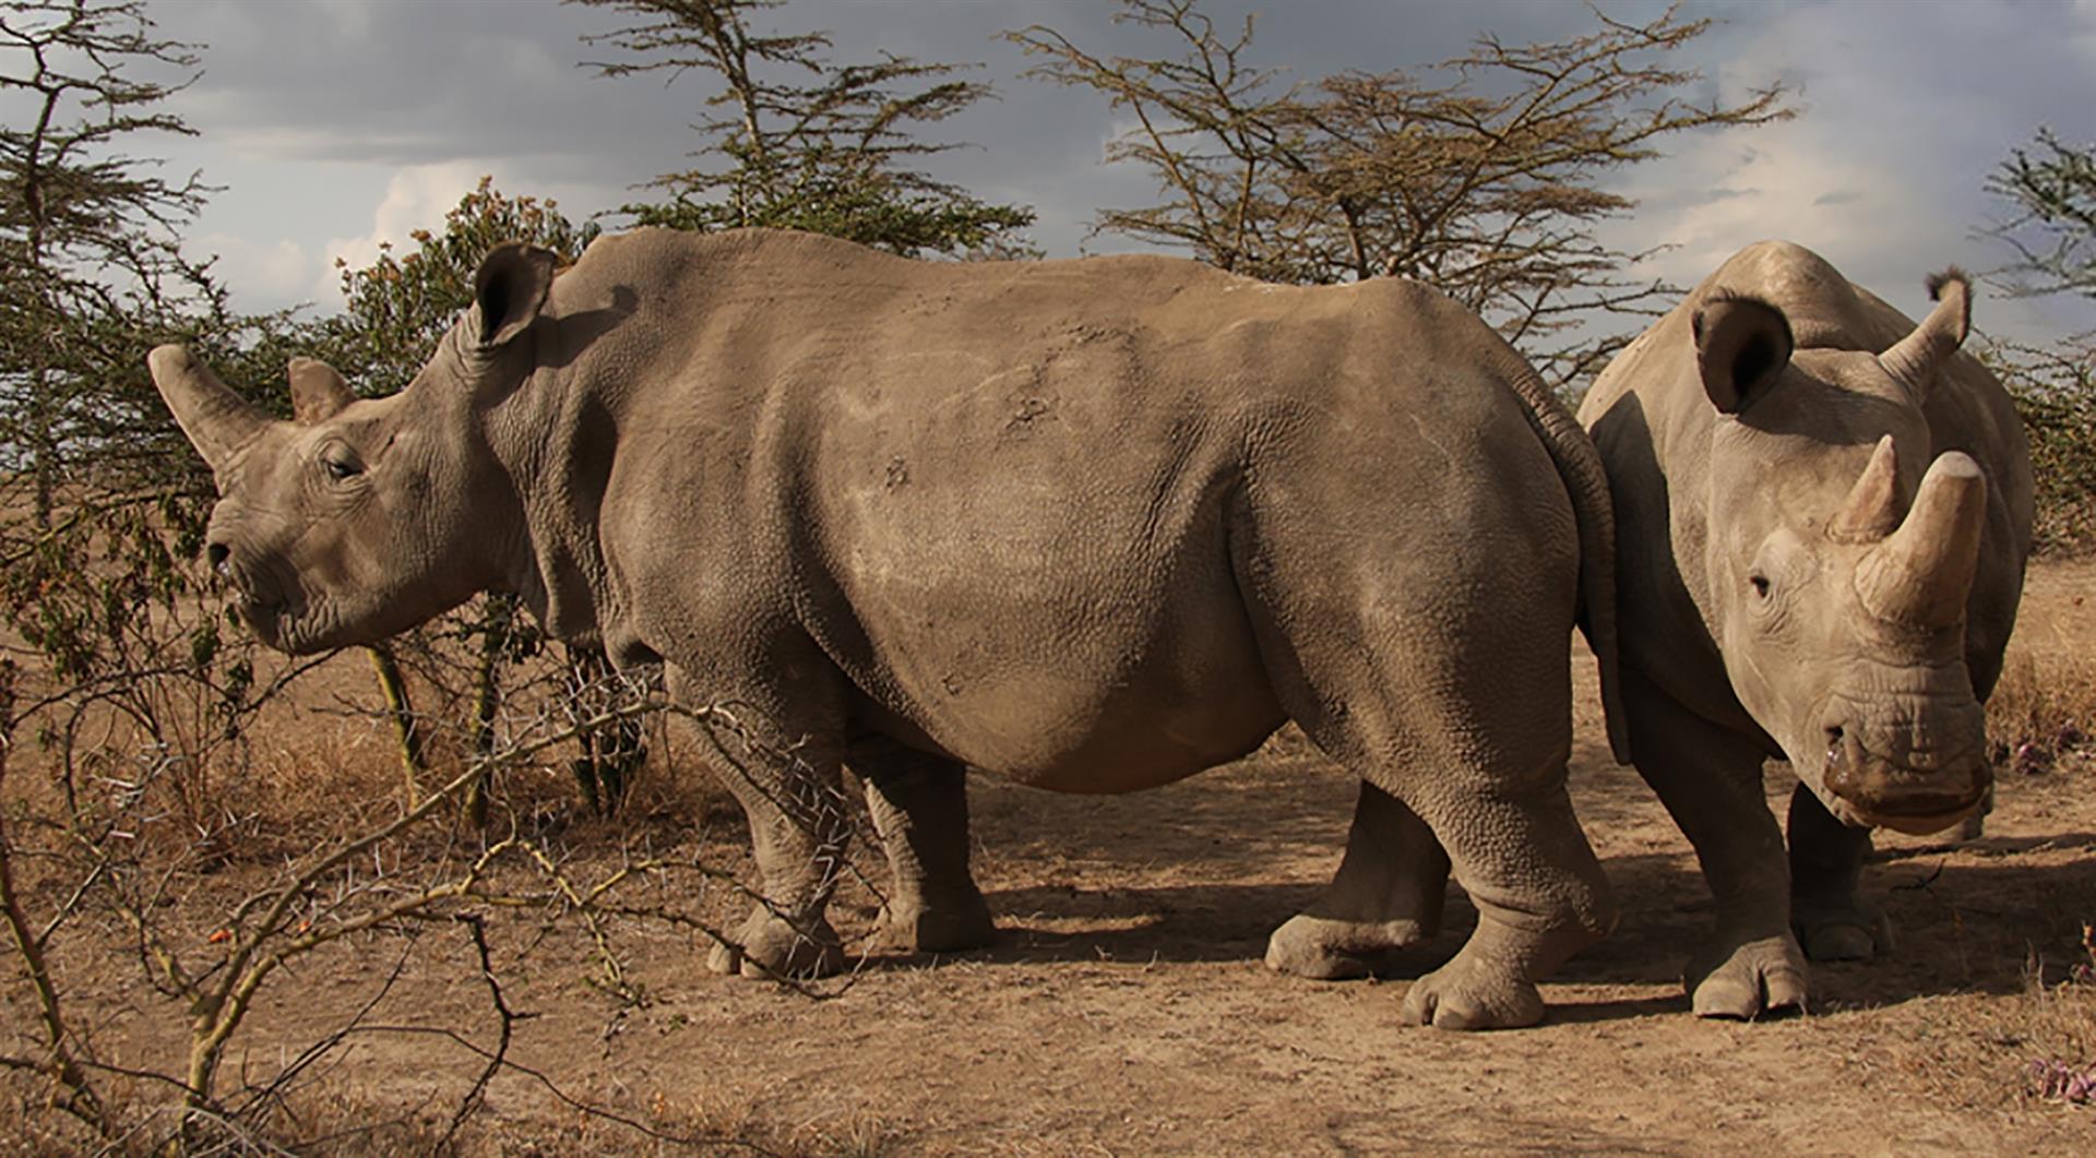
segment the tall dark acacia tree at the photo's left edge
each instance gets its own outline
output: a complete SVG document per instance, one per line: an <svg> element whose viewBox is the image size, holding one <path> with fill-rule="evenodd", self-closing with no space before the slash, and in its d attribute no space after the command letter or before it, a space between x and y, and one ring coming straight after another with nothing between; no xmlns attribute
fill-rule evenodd
<svg viewBox="0 0 2096 1158"><path fill-rule="evenodd" d="M50 528L61 477L140 442L140 398L117 387L145 364L132 335L210 299L178 251L201 184L122 153L140 134L191 132L159 105L197 59L153 34L140 0L8 2L0 59L0 92L19 109L0 124L0 452L29 484L34 524ZM182 75L128 75L138 67Z"/></svg>

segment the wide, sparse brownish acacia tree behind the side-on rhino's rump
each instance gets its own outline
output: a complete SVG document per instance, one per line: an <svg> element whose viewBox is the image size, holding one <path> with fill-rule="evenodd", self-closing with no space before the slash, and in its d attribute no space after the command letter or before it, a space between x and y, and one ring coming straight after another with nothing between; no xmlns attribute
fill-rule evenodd
<svg viewBox="0 0 2096 1158"><path fill-rule="evenodd" d="M1402 274L1429 281L1574 381L1626 335L1582 333L1597 314L1656 314L1679 289L1631 276L1645 251L1599 226L1633 207L1603 186L1677 134L1792 115L1784 88L1689 96L1668 63L1710 21L1673 10L1549 44L1484 36L1419 71L1285 84L1253 65L1253 21L1218 31L1197 0L1123 0L1115 17L1178 57L1098 57L1052 27L1008 34L1044 59L1029 75L1092 88L1134 128L1111 161L1157 176L1159 203L1105 209L1096 230L1186 249L1283 283Z"/></svg>

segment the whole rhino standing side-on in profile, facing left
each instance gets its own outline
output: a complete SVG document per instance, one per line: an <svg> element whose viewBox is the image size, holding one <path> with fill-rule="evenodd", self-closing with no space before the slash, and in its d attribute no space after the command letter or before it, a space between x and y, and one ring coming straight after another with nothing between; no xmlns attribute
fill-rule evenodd
<svg viewBox="0 0 2096 1158"><path fill-rule="evenodd" d="M1576 607L1614 660L1608 482L1528 364L1421 285L641 230L558 279L495 249L392 398L298 360L270 421L180 348L151 369L264 641L375 641L507 588L769 722L727 777L767 903L719 972L840 963L840 808L788 815L840 764L895 873L889 936L945 951L994 932L964 766L1130 792L1287 718L1362 787L1274 967L1429 934L1453 863L1478 932L1404 1018L1518 1026L1614 921L1566 796Z"/></svg>

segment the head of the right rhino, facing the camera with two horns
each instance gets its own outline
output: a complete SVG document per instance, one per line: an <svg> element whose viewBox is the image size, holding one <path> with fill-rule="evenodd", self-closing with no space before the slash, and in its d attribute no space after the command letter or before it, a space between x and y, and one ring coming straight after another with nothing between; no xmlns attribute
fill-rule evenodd
<svg viewBox="0 0 2096 1158"><path fill-rule="evenodd" d="M1964 649L1987 480L1964 452L1930 463L1922 415L1970 287L1951 270L1930 291L1884 354L1794 350L1784 314L1748 297L1694 316L1723 415L1704 557L1733 691L1830 812L1914 833L1966 817L1993 779Z"/></svg>

